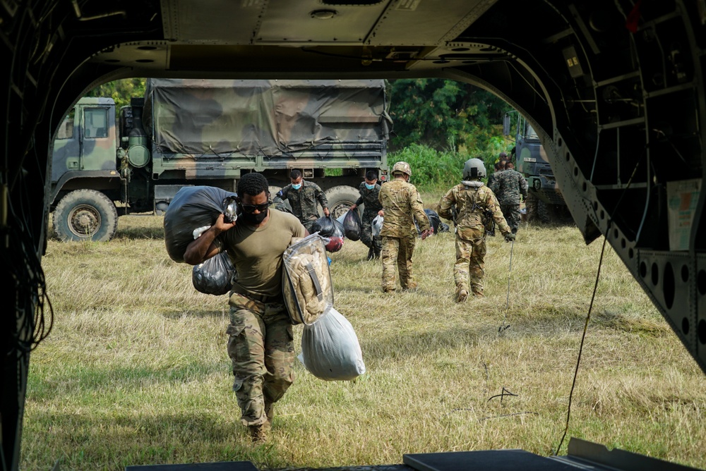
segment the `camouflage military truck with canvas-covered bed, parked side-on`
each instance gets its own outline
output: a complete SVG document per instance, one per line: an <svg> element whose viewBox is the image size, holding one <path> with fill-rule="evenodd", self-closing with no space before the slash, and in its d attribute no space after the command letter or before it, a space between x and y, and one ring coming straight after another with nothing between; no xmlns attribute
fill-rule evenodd
<svg viewBox="0 0 706 471"><path fill-rule="evenodd" d="M82 98L54 141L54 232L110 240L121 214L163 214L185 185L234 192L253 171L274 195L299 169L340 216L366 171L387 179L387 105L384 80L148 79L117 118L112 99Z"/></svg>

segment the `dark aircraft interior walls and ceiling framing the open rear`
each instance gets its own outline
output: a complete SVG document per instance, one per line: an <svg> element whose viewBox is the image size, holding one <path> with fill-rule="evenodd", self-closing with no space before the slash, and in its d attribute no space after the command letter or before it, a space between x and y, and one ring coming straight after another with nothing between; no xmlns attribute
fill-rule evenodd
<svg viewBox="0 0 706 471"><path fill-rule="evenodd" d="M16 469L44 280L48 152L127 77L450 78L542 140L587 243L605 236L706 372L705 0L6 0L2 448Z"/></svg>

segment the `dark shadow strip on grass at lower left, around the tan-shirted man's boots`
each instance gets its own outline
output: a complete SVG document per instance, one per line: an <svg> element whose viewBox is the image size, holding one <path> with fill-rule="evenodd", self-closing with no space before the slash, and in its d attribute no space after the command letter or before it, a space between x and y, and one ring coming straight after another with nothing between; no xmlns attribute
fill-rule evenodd
<svg viewBox="0 0 706 471"><path fill-rule="evenodd" d="M36 463L59 456L66 469L116 470L223 461L251 461L261 467L285 464L275 446L253 445L238 418L237 407L232 417L199 410L157 414L128 410L109 415L35 410L28 417L24 437L34 436L35 443L23 451L23 460ZM52 433L47 436L49 428Z"/></svg>

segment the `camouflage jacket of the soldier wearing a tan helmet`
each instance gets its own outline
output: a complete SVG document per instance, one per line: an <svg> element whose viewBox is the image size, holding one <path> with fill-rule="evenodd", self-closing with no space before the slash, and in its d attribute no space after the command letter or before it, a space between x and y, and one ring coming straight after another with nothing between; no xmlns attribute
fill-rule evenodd
<svg viewBox="0 0 706 471"><path fill-rule="evenodd" d="M383 206L385 216L380 235L383 237L417 237L417 220L420 231L426 231L429 217L424 212L424 204L417 188L404 180L395 179L380 188L378 200Z"/></svg>

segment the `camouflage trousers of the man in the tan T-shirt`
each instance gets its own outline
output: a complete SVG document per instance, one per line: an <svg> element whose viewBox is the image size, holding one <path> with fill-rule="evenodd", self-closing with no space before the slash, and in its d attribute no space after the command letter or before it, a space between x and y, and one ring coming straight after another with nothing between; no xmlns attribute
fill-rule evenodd
<svg viewBox="0 0 706 471"><path fill-rule="evenodd" d="M238 293L229 299L228 356L241 422L267 421L265 403L282 398L294 382L292 324L282 302L259 302Z"/></svg>

